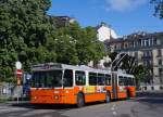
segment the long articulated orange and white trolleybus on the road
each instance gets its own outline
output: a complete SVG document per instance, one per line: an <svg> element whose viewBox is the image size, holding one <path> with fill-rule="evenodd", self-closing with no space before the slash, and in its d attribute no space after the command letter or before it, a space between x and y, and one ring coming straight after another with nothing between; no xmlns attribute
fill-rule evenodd
<svg viewBox="0 0 163 117"><path fill-rule="evenodd" d="M58 63L33 66L32 104L76 104L135 96L133 75Z"/></svg>

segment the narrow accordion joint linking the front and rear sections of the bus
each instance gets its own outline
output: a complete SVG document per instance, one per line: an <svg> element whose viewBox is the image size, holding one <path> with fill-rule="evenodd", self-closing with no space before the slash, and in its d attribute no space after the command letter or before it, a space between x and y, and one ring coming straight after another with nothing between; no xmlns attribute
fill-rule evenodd
<svg viewBox="0 0 163 117"><path fill-rule="evenodd" d="M112 73L112 92L113 99L117 99L117 74Z"/></svg>

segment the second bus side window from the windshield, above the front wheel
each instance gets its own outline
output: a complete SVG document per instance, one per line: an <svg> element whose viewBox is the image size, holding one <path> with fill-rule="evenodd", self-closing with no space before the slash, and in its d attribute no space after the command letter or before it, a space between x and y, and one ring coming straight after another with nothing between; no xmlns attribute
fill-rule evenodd
<svg viewBox="0 0 163 117"><path fill-rule="evenodd" d="M76 86L85 86L86 84L86 74L85 72L75 72L75 82Z"/></svg>

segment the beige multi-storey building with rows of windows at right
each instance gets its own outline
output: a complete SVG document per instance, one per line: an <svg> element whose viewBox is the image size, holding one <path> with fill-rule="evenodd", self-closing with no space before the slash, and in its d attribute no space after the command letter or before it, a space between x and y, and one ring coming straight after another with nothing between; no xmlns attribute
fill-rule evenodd
<svg viewBox="0 0 163 117"><path fill-rule="evenodd" d="M163 87L163 32L137 32L108 41L115 52L124 52L150 69L145 84Z"/></svg>

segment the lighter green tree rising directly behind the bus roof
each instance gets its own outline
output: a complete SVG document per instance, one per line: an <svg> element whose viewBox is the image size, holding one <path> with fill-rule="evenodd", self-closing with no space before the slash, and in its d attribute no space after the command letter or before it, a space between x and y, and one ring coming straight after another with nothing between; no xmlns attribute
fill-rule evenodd
<svg viewBox="0 0 163 117"><path fill-rule="evenodd" d="M93 27L82 28L77 22L58 29L57 62L65 64L85 64L99 61L104 46L97 39Z"/></svg>

